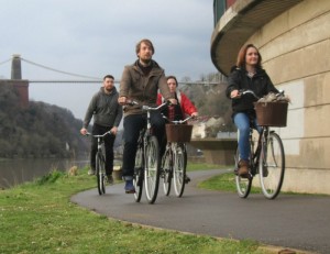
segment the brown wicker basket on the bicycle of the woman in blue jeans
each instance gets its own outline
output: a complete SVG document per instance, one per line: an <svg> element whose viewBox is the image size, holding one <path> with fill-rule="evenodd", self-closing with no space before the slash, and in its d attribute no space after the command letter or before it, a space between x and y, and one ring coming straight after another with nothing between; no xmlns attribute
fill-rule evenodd
<svg viewBox="0 0 330 254"><path fill-rule="evenodd" d="M286 126L287 102L256 102L254 109L262 126Z"/></svg>

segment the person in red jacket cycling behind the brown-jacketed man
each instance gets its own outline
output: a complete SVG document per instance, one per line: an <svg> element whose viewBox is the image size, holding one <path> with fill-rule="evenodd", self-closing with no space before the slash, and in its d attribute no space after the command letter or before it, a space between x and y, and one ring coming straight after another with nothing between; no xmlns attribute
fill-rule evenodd
<svg viewBox="0 0 330 254"><path fill-rule="evenodd" d="M169 121L178 121L184 120L186 114L191 117L198 117L198 112L194 103L189 100L189 98L177 89L177 79L175 76L167 76L167 86L169 88L169 91L175 95L175 99L178 101L177 104L170 104L162 112L169 119ZM161 93L157 96L157 104L162 104L164 102L164 97L162 97ZM165 135L166 136L166 135ZM164 142L165 148L166 142ZM186 175L185 178L186 184L190 181L190 178Z"/></svg>

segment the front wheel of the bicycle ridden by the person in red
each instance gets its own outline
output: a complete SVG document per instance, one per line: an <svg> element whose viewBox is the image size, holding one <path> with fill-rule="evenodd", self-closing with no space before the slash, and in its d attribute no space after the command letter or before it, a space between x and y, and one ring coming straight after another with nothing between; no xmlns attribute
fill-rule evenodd
<svg viewBox="0 0 330 254"><path fill-rule="evenodd" d="M176 197L180 198L185 191L186 177L186 150L183 145L178 145L174 152L173 164L173 183Z"/></svg>

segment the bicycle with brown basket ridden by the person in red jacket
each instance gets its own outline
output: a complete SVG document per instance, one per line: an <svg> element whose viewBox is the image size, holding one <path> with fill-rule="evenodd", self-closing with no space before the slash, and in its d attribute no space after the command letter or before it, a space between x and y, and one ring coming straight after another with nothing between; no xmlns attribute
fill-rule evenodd
<svg viewBox="0 0 330 254"><path fill-rule="evenodd" d="M193 117L178 121L169 121L166 117L164 118L172 124L166 124L167 144L162 158L161 174L163 178L163 190L166 196L169 195L173 179L175 195L182 197L186 185L187 167L187 148L185 142L190 141L193 129L193 125L183 123Z"/></svg>

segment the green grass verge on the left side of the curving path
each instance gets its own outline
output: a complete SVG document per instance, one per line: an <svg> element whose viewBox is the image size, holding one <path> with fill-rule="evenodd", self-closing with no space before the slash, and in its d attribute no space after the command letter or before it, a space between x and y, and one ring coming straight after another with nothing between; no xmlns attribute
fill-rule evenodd
<svg viewBox="0 0 330 254"><path fill-rule="evenodd" d="M219 240L124 223L69 201L95 188L87 168L54 170L0 191L0 253L276 253L252 240ZM178 208L179 209L179 208Z"/></svg>

